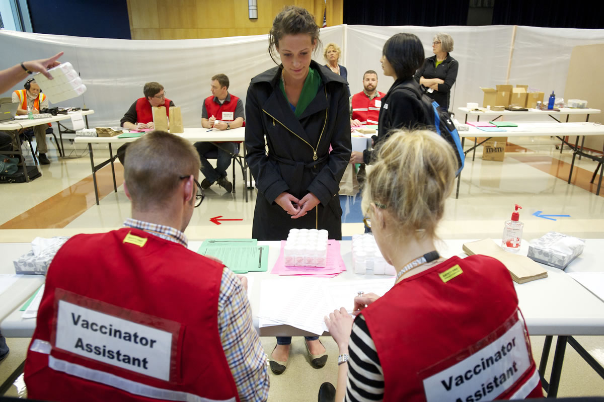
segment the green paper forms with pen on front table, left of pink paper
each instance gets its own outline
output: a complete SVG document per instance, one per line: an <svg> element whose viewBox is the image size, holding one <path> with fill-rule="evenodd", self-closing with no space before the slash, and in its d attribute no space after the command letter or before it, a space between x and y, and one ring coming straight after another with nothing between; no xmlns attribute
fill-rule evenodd
<svg viewBox="0 0 604 402"><path fill-rule="evenodd" d="M255 239L251 240L255 241ZM234 273L247 273L249 271L264 272L268 270L268 250L268 246L250 246L249 244L246 246L240 244L204 246L202 244L198 253L217 258Z"/></svg>

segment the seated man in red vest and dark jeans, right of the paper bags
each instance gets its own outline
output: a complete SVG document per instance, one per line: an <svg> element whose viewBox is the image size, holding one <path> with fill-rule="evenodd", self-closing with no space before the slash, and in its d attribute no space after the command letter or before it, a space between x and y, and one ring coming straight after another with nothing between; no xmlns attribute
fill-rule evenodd
<svg viewBox="0 0 604 402"><path fill-rule="evenodd" d="M242 127L245 121L243 102L228 92L229 80L224 74L216 74L210 83L209 97L205 98L201 112L201 125L206 129L230 130ZM201 173L205 179L201 182L204 190L214 182L228 193L233 191L233 183L226 179L226 169L231 158L237 153L237 142L195 142L195 148L201 159ZM216 168L212 167L205 154L217 150Z"/></svg>

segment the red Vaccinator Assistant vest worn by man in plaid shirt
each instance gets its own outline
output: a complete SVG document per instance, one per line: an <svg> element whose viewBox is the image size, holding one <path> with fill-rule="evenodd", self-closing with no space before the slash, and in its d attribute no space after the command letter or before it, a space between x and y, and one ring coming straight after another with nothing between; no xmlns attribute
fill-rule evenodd
<svg viewBox="0 0 604 402"><path fill-rule="evenodd" d="M25 362L28 395L239 401L218 332L222 271L138 229L72 237L48 269Z"/></svg>

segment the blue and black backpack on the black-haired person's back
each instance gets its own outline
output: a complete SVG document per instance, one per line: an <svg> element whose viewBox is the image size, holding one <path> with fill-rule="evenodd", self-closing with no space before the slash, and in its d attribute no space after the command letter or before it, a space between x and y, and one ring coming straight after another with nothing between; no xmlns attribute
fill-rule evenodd
<svg viewBox="0 0 604 402"><path fill-rule="evenodd" d="M463 153L459 133L453 124L453 120L451 119L449 112L443 110L438 103L428 97L425 92L422 93L422 90L419 88L419 86L413 85L413 83L402 85L399 88L408 89L409 91L413 92L420 101L422 101L422 104L426 109L426 124L429 126L434 126L436 132L439 133L442 138L445 138L446 141L449 142L449 144L451 144L453 147L455 156L457 156L457 172L455 172L455 177L459 176L461 170L463 169L463 162L466 159L466 154Z"/></svg>

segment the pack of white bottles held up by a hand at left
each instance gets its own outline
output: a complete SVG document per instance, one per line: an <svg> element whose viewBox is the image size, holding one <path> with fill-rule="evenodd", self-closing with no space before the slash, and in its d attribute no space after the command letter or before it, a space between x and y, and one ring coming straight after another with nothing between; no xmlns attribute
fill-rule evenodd
<svg viewBox="0 0 604 402"><path fill-rule="evenodd" d="M42 74L36 74L34 78L52 103L79 97L86 92L86 85L82 83L82 78L79 77L71 63L61 63L49 69L48 72L53 75L53 80L49 80Z"/></svg>

